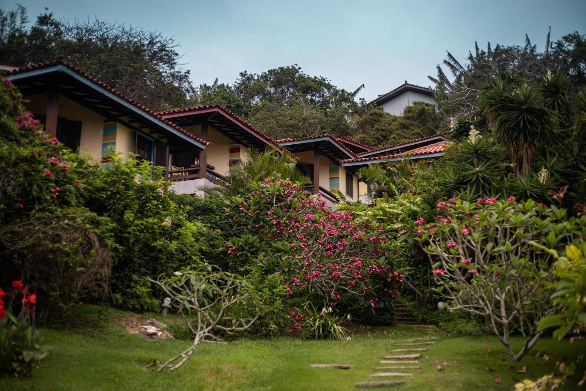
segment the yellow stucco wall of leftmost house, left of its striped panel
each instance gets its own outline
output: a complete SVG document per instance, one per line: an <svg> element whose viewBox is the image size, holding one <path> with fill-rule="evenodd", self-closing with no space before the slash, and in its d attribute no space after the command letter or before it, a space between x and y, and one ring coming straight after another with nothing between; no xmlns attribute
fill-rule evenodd
<svg viewBox="0 0 586 391"><path fill-rule="evenodd" d="M46 114L46 93L26 96L26 99L30 101L25 103L26 109L31 113ZM102 157L101 133L105 118L64 96L59 96L59 116L72 121L81 121L80 152L81 154L89 153L94 160L100 160Z"/></svg>

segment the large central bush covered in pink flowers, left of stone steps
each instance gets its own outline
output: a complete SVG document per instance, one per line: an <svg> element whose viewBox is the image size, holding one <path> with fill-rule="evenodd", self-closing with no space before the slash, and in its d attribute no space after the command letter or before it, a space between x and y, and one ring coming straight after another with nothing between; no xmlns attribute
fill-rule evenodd
<svg viewBox="0 0 586 391"><path fill-rule="evenodd" d="M297 184L270 178L227 201L235 234L228 253L241 268L256 258L267 274L281 272L289 294L306 289L331 305L360 295L382 307L396 294L401 245L386 223L328 210Z"/></svg>

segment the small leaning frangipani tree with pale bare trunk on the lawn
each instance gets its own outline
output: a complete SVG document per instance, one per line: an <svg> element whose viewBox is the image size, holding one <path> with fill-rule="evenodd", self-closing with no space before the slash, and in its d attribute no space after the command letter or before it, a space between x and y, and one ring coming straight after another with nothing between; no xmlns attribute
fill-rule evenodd
<svg viewBox="0 0 586 391"><path fill-rule="evenodd" d="M244 331L258 318L258 293L246 279L223 272L212 265L183 269L171 278L154 280L171 298L171 304L185 318L194 334L193 344L167 360L160 368L176 370L193 355L201 342L225 343L216 331L233 334Z"/></svg>

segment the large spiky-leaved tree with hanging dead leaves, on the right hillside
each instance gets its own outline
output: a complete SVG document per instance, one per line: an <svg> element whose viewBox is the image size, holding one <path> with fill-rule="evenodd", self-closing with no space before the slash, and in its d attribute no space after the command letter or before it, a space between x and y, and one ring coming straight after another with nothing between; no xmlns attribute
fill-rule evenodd
<svg viewBox="0 0 586 391"><path fill-rule="evenodd" d="M486 124L505 144L515 174L529 173L537 146L558 141L560 114L544 106L543 95L534 85L506 75L491 77L479 107Z"/></svg>

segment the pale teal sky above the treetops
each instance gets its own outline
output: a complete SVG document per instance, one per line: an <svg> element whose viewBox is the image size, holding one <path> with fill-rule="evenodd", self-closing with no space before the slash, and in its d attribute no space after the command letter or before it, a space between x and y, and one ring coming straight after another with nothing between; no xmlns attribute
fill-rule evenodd
<svg viewBox="0 0 586 391"><path fill-rule="evenodd" d="M586 1L125 1L19 0L33 20L124 22L173 36L199 83L233 82L242 70L297 63L305 73L374 99L408 82L428 86L446 50L464 60L474 41L540 50L552 39L586 34ZM2 2L3 9L12 8Z"/></svg>

